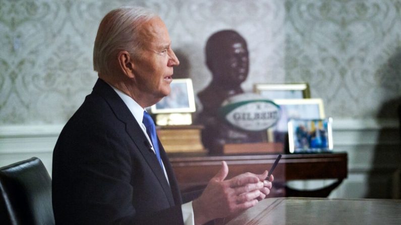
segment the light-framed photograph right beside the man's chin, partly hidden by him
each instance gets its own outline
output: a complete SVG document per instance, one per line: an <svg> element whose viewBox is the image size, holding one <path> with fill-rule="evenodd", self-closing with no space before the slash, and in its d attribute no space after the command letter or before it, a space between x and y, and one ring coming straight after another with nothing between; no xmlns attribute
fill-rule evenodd
<svg viewBox="0 0 401 225"><path fill-rule="evenodd" d="M153 114L195 112L194 89L191 79L174 79L170 84L171 92L160 102L151 106Z"/></svg>

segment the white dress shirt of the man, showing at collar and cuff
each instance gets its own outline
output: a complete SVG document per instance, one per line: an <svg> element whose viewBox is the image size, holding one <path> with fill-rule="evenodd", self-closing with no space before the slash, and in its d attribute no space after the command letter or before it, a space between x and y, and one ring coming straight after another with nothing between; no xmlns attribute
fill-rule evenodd
<svg viewBox="0 0 401 225"><path fill-rule="evenodd" d="M114 88L113 86L110 85L110 87L116 91L116 93L120 96L120 98L123 100L123 102L127 105L128 109L131 111L132 115L134 116L134 118L136 119L136 121L138 122L138 124L140 125L143 133L145 134L146 138L148 139L152 150L154 152L153 149L153 144L152 141L149 138L149 135L146 132L146 126L145 124L142 123L143 120L143 112L145 111L144 108L142 108L134 99L132 99L130 96L126 95L125 93L123 93L122 91L118 90L117 88ZM162 162L163 164L163 162ZM164 164L163 164L163 171L164 171L164 176L167 179L167 183L168 183L168 176L167 176L167 172L165 171L164 168ZM183 220L184 220L184 224L185 225L195 225L195 221L194 221L194 210L192 208L192 201L182 204L181 205L181 210L183 212Z"/></svg>

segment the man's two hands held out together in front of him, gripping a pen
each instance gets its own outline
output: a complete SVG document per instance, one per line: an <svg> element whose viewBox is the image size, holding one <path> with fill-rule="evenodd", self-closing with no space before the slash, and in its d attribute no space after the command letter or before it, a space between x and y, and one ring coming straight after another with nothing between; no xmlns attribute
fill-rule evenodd
<svg viewBox="0 0 401 225"><path fill-rule="evenodd" d="M224 180L227 174L228 167L223 161L202 195L192 202L195 224L248 209L270 192L273 177L270 177L270 182L264 181L267 171L260 175L245 173Z"/></svg>

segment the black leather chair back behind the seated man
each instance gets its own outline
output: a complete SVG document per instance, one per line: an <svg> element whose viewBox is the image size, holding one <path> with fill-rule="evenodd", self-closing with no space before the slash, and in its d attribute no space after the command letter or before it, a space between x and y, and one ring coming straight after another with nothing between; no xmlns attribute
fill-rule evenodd
<svg viewBox="0 0 401 225"><path fill-rule="evenodd" d="M54 224L51 178L38 158L0 168L0 224Z"/></svg>

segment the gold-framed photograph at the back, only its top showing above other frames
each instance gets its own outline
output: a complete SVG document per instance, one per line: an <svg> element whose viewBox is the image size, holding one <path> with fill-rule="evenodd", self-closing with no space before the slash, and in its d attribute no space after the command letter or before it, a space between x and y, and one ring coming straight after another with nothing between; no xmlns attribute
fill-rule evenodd
<svg viewBox="0 0 401 225"><path fill-rule="evenodd" d="M308 99L308 83L295 84L255 84L254 92L268 99Z"/></svg>

